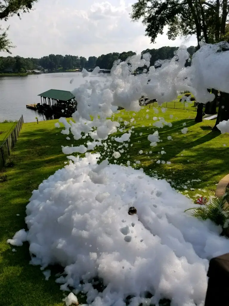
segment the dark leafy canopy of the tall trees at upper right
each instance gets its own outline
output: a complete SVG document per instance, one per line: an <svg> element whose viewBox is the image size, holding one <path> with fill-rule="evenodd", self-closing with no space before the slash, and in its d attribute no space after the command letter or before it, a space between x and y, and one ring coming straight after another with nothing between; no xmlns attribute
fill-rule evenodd
<svg viewBox="0 0 229 306"><path fill-rule="evenodd" d="M130 17L141 20L146 27L146 35L155 42L158 34L168 26L167 36L196 34L198 43L215 43L224 39L229 0L138 0L132 5Z"/></svg>

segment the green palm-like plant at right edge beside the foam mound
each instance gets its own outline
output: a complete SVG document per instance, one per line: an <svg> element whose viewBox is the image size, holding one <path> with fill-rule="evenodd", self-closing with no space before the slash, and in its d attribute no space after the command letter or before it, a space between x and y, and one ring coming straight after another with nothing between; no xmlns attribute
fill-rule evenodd
<svg viewBox="0 0 229 306"><path fill-rule="evenodd" d="M226 193L224 196L219 198L213 198L209 204L192 207L188 210L194 210L192 216L195 218L206 220L210 219L217 225L223 227L222 235L229 237L229 194Z"/></svg>

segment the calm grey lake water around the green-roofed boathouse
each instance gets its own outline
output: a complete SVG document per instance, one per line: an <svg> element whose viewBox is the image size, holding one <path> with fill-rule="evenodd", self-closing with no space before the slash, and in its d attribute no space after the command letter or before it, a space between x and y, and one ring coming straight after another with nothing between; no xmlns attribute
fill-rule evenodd
<svg viewBox="0 0 229 306"><path fill-rule="evenodd" d="M109 75L108 75L109 76ZM70 80L74 78L72 84ZM26 104L41 102L40 93L49 89L72 91L86 80L105 80L103 76L83 78L81 73L45 73L28 76L0 77L0 121L18 120L23 115L24 122L46 120L43 114L26 108Z"/></svg>

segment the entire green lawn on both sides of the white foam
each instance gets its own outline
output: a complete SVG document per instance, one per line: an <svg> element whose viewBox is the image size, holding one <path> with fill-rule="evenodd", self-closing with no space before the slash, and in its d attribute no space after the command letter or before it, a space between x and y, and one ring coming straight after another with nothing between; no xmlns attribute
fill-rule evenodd
<svg viewBox="0 0 229 306"><path fill-rule="evenodd" d="M147 111L148 110L148 111ZM121 110L116 119L120 122L128 121L125 130L134 126L131 141L126 152L121 155L117 163L125 164L128 160L131 166L143 168L149 175L172 180L174 188L184 194L196 198L196 194L214 194L218 181L229 173L228 164L228 135L211 132L215 121L195 123L196 113L191 110L142 107L139 113ZM169 115L173 115L170 118ZM156 128L153 117L163 117L172 127ZM148 118L147 118L148 117ZM133 122L130 122L131 118ZM2 305L7 306L62 306L63 291L60 284L55 283L55 272L48 281L37 266L29 265L30 255L28 244L13 247L6 243L14 233L26 228L25 206L29 202L31 192L56 170L64 166L66 156L61 151L61 145L83 144L85 140L66 140L66 135L54 127L58 120L24 123L20 136L13 148L9 165L4 169L8 181L0 182L0 297ZM183 124L186 123L185 126ZM123 123L121 124L122 126ZM188 128L186 135L181 129ZM125 132L118 132L120 136ZM147 136L158 130L160 139L157 147L150 147ZM142 133L142 134L141 134ZM173 140L168 140L172 136ZM111 139L111 137L109 137ZM119 143L111 140L118 151ZM108 143L108 141L107 141ZM131 147L131 144L133 146ZM224 146L226 144L226 146ZM104 152L101 148L99 151ZM139 151L143 150L142 154ZM158 154L165 151L166 154ZM152 151L150 153L150 151ZM110 153L110 156L113 152ZM108 155L103 155L106 158ZM170 161L171 164L156 164L156 161ZM140 165L136 164L140 161ZM114 160L111 158L111 162ZM136 164L136 166L134 165ZM1 175L1 173L0 173ZM201 181L193 181L201 179ZM190 181L190 182L189 182ZM170 182L171 183L171 182ZM185 189L184 186L187 186ZM194 188L194 190L190 190ZM199 190L200 189L200 190ZM204 190L204 191L203 191ZM20 216L16 216L19 214ZM15 248L17 252L12 252ZM85 299L79 300L85 303Z"/></svg>

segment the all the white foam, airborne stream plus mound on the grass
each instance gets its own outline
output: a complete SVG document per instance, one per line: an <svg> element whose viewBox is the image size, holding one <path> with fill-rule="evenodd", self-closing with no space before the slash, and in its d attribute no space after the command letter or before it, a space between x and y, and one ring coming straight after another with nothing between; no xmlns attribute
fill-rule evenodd
<svg viewBox="0 0 229 306"><path fill-rule="evenodd" d="M128 296L133 296L131 306L157 304L161 298L170 299L171 306L204 304L208 260L229 252L229 240L219 236L222 229L184 213L193 205L191 200L165 180L148 177L130 166L108 164L107 160L97 165L101 156L86 151L104 145L108 155L120 158L120 153L125 153L122 143L130 141L131 130L115 138L110 150L107 143L111 143L104 140L117 132L120 123L107 118L118 106L139 110L143 95L160 104L176 99L177 91L188 90L205 103L214 98L207 88L227 91L229 51L217 52L222 46L228 47L226 43L204 45L187 68L184 64L189 54L182 46L171 61L137 76L132 72L140 66L149 67L150 55L144 54L143 59L134 55L126 62L116 61L110 78L86 81L73 91L78 103L72 115L75 122L60 118L65 127L61 132L71 132L74 140L88 138L83 145L62 150L66 154L85 153L85 157L68 156L69 165L33 191L26 209L28 231L20 230L8 240L16 246L29 241L31 263L42 269L62 265L65 274L56 280L62 283L62 290L73 287L75 294L82 291L87 294L87 303L94 306L124 306ZM98 72L96 67L93 73ZM83 76L87 75L83 70ZM164 118L159 120L158 128L171 126ZM182 131L186 133L187 128ZM148 140L149 148L156 146L158 131ZM136 207L137 215L128 215L130 206ZM49 271L44 275L49 278ZM105 285L102 292L93 287L97 278ZM146 299L146 292L153 297ZM66 298L66 304L74 299L73 295Z"/></svg>

